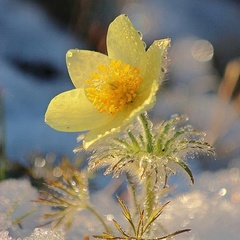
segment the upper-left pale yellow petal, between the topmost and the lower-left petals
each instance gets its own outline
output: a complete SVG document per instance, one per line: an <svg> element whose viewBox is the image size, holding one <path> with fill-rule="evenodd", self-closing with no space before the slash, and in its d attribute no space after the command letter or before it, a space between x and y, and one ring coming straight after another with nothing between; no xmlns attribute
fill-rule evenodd
<svg viewBox="0 0 240 240"><path fill-rule="evenodd" d="M70 78L76 88L81 88L99 64L109 64L107 55L87 50L71 49L66 54Z"/></svg>

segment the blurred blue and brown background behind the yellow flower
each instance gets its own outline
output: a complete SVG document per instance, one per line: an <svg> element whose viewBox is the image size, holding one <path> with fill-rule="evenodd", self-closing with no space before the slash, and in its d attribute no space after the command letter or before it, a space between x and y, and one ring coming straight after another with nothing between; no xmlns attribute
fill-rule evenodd
<svg viewBox="0 0 240 240"><path fill-rule="evenodd" d="M166 79L151 110L154 121L186 114L207 133L217 159L200 161L199 170L239 166L237 0L0 0L1 161L43 167L59 156L74 158L78 134L51 129L44 114L55 95L73 88L67 50L106 53L108 25L121 13L147 46L172 39Z"/></svg>

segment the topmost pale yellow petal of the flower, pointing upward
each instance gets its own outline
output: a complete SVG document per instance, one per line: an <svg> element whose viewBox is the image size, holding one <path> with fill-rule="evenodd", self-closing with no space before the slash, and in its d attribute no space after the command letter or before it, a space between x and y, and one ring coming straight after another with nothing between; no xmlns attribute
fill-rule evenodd
<svg viewBox="0 0 240 240"><path fill-rule="evenodd" d="M107 50L109 58L140 68L145 43L127 16L120 15L109 25Z"/></svg>

